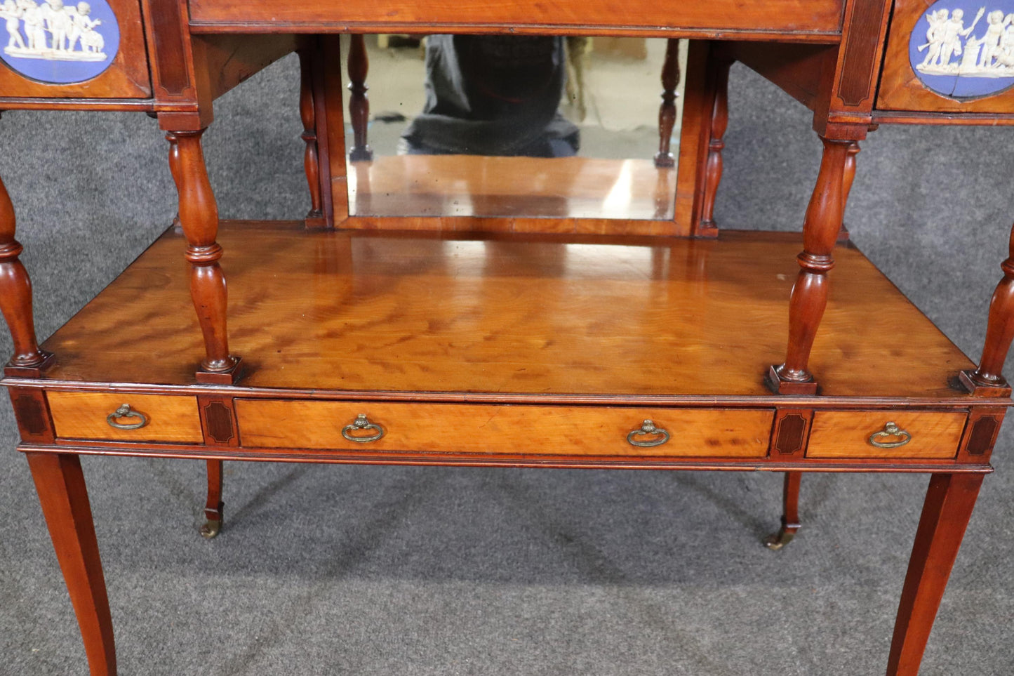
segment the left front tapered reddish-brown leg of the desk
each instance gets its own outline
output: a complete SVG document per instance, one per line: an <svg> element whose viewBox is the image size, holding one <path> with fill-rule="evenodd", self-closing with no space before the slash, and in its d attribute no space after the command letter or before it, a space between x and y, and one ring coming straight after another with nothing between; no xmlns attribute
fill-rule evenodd
<svg viewBox="0 0 1014 676"><path fill-rule="evenodd" d="M71 454L26 453L25 456L81 627L91 676L116 676L113 617L81 462Z"/></svg>

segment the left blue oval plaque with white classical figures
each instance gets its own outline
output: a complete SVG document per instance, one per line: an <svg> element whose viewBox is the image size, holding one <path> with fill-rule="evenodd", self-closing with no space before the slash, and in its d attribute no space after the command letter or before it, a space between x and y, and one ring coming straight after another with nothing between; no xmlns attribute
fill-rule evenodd
<svg viewBox="0 0 1014 676"><path fill-rule="evenodd" d="M0 59L40 82L90 80L120 49L120 25L105 0L0 0L0 19L7 28Z"/></svg>

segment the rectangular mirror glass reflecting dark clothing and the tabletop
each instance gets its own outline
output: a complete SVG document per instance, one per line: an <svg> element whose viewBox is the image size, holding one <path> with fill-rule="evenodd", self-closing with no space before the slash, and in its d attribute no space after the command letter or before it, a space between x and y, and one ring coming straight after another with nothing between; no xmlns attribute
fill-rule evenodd
<svg viewBox="0 0 1014 676"><path fill-rule="evenodd" d="M685 43L350 36L343 52L351 214L672 218Z"/></svg>

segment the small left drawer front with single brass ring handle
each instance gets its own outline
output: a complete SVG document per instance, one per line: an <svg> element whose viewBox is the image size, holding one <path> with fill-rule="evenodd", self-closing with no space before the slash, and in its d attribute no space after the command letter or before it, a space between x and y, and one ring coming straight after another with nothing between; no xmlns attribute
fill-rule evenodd
<svg viewBox="0 0 1014 676"><path fill-rule="evenodd" d="M93 392L48 392L46 396L57 436L63 438L204 442L197 397ZM131 414L116 416L117 409L124 404L130 406ZM111 414L114 415L114 423L141 426L132 429L116 427L111 424Z"/></svg>

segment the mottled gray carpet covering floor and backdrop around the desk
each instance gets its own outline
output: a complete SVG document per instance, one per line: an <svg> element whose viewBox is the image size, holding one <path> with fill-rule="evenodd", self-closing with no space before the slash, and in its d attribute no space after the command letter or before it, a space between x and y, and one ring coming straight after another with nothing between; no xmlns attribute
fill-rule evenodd
<svg viewBox="0 0 1014 676"><path fill-rule="evenodd" d="M287 59L217 107L206 151L223 216L305 212L295 70ZM720 220L798 228L819 162L809 116L738 66L731 88ZM1012 143L1012 129L883 128L847 214L973 358L1014 216ZM165 146L142 115L5 114L0 176L43 336L171 218ZM0 416L0 672L86 674L9 406ZM1012 428L922 674L1012 672ZM226 530L206 542L201 463L84 466L121 673L142 676L881 674L927 483L808 476L804 529L773 553L774 474L232 463Z"/></svg>

